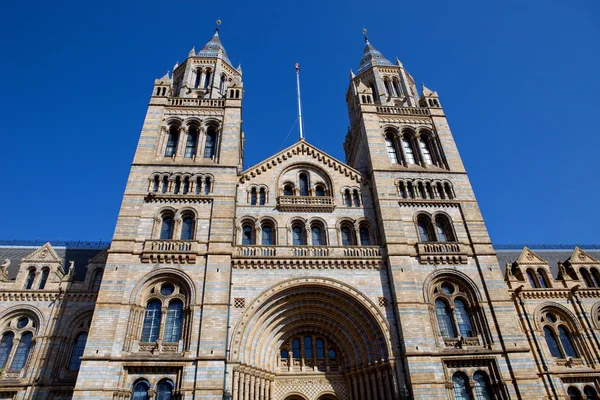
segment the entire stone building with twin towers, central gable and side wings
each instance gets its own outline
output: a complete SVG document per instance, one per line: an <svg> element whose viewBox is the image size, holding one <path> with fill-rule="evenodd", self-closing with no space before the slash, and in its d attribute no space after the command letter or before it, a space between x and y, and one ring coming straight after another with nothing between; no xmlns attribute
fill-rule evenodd
<svg viewBox="0 0 600 400"><path fill-rule="evenodd" d="M217 30L154 83L108 249L0 246L0 399L598 398L600 251L495 250L400 61L366 41L346 162L244 170L243 95Z"/></svg>

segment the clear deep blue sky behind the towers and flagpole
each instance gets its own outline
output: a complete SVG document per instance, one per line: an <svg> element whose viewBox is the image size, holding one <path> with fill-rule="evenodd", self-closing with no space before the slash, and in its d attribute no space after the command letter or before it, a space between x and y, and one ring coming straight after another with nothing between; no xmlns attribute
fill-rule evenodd
<svg viewBox="0 0 600 400"><path fill-rule="evenodd" d="M245 164L344 159L361 29L438 91L494 243L598 243L600 3L4 2L0 239L110 239L155 78L211 37L244 71Z"/></svg>

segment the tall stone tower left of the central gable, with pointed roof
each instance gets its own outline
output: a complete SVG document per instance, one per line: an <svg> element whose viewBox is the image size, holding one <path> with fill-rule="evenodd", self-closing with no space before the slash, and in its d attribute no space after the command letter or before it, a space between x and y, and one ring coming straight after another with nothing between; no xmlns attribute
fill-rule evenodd
<svg viewBox="0 0 600 400"><path fill-rule="evenodd" d="M155 81L76 398L222 398L242 97L218 28Z"/></svg>

